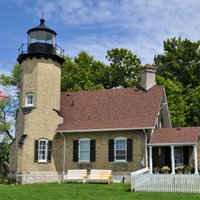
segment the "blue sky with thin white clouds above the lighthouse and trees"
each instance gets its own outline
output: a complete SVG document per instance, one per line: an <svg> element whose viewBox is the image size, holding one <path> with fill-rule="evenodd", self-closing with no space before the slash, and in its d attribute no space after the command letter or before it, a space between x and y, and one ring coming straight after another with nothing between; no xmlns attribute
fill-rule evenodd
<svg viewBox="0 0 200 200"><path fill-rule="evenodd" d="M42 12L65 55L86 51L105 62L107 50L123 47L146 64L163 53L167 38L199 39L199 9L199 0L1 0L0 74L11 72Z"/></svg>

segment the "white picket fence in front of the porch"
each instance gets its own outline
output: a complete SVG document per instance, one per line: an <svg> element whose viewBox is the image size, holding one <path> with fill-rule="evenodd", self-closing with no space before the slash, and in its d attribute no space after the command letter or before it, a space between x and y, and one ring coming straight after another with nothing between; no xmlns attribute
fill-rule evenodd
<svg viewBox="0 0 200 200"><path fill-rule="evenodd" d="M139 174L132 182L132 191L200 193L200 176L194 174Z"/></svg>

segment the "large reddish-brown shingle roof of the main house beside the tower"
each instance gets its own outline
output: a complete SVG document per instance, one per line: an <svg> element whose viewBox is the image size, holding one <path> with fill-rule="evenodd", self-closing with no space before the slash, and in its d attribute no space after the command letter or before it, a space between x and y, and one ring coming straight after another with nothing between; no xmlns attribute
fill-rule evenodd
<svg viewBox="0 0 200 200"><path fill-rule="evenodd" d="M153 127L163 86L61 93L64 123L57 131Z"/></svg>

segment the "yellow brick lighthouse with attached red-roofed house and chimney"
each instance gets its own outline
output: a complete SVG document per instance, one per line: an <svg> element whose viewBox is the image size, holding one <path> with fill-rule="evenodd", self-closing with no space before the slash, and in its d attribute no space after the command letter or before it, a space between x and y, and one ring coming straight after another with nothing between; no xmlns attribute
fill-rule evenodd
<svg viewBox="0 0 200 200"><path fill-rule="evenodd" d="M27 47L21 47L18 57L20 104L10 176L18 183L55 182L62 181L68 169L111 169L120 179L166 164L153 157L162 142L152 136L158 138L160 129L171 130L165 89L156 85L154 67L142 69L141 88L61 93L63 50L56 45L56 32L44 22L28 30ZM190 145L197 145L199 132ZM173 146L172 141L166 144ZM175 166L173 159L170 162Z"/></svg>

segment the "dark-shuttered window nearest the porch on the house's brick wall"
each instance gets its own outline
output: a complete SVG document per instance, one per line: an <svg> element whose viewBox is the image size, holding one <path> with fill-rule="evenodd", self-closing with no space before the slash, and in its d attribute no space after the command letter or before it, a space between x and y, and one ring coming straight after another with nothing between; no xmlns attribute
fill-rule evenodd
<svg viewBox="0 0 200 200"><path fill-rule="evenodd" d="M132 139L117 137L109 140L109 161L126 162L132 161Z"/></svg>

